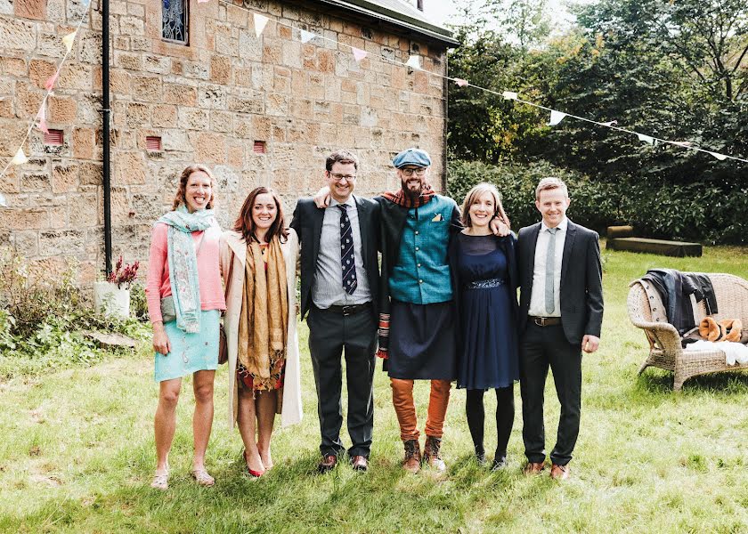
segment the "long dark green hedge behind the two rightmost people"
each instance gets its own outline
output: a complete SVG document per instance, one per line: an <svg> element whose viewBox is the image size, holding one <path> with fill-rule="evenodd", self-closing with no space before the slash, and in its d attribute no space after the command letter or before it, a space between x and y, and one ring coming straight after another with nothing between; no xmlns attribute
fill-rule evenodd
<svg viewBox="0 0 748 534"><path fill-rule="evenodd" d="M596 182L546 162L491 166L457 159L450 162L448 190L461 203L476 183L495 184L512 227L519 229L540 220L534 190L546 176L557 176L568 185L569 217L601 234L610 225L633 224L641 237L733 244L748 240L748 219L738 216L748 211L745 188L725 194L708 183L668 184L635 178Z"/></svg>

